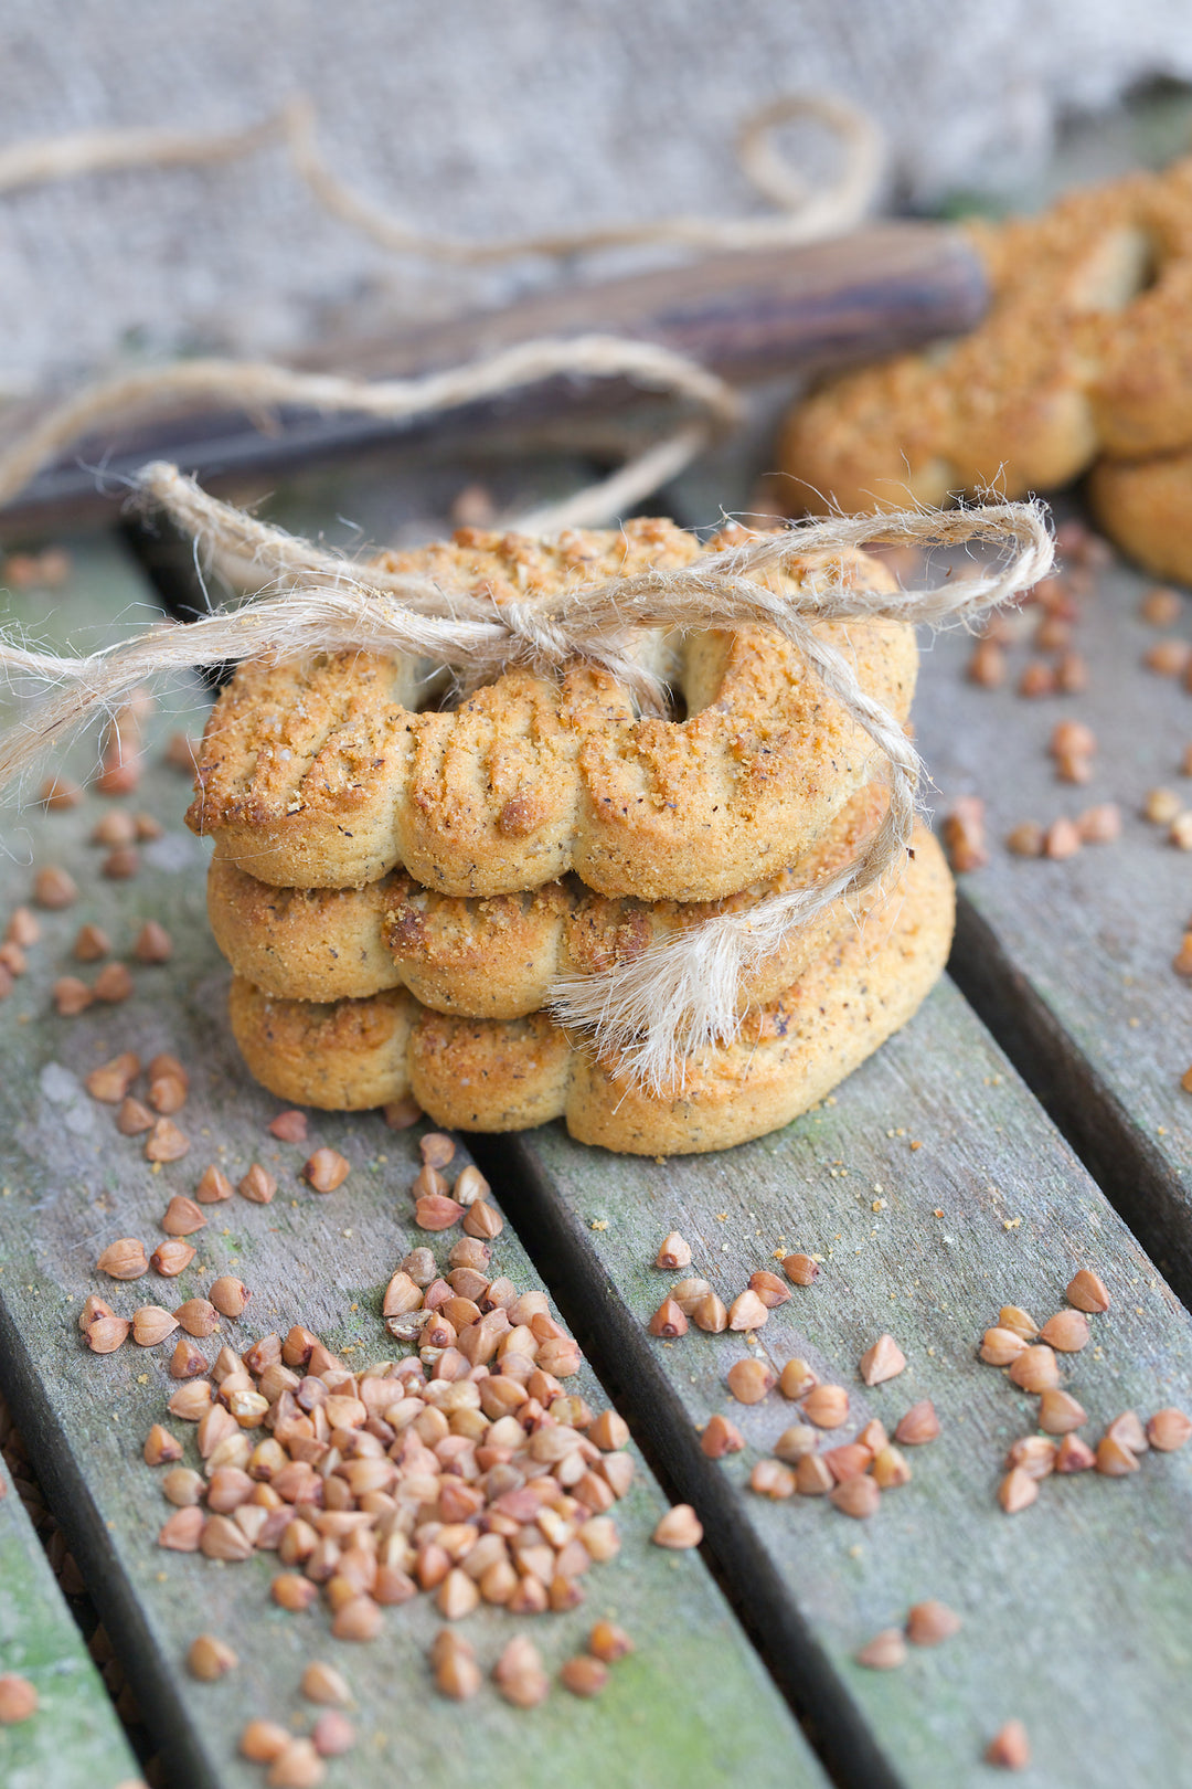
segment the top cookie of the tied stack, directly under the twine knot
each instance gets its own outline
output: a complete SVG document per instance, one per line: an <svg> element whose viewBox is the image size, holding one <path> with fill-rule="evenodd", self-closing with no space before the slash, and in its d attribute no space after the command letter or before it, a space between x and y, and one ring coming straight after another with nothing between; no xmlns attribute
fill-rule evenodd
<svg viewBox="0 0 1192 1789"><path fill-rule="evenodd" d="M658 521L552 542L463 530L384 564L533 601L688 565L727 538L704 546ZM793 558L774 587L840 571L860 589L895 589L863 553ZM820 633L906 719L913 632L874 621ZM508 671L445 712L411 707L416 667L400 658L241 666L207 723L189 825L214 834L222 861L273 886L363 887L402 866L456 896L567 873L611 896L738 893L815 846L870 780L874 748L779 635L742 628L670 644L681 721L636 714L622 685L583 664L558 682Z"/></svg>

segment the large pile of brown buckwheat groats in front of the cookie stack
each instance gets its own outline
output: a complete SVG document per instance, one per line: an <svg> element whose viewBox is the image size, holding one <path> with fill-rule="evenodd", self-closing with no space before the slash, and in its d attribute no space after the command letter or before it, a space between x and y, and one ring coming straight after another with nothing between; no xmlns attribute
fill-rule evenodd
<svg viewBox="0 0 1192 1789"><path fill-rule="evenodd" d="M164 1469L161 1490L173 1505L159 1546L229 1564L277 1553L273 1601L306 1610L325 1598L340 1641L377 1639L384 1610L418 1594L432 1596L452 1624L481 1603L513 1617L575 1608L584 1574L620 1547L609 1512L634 1478L622 1417L597 1415L567 1390L583 1356L545 1293L518 1292L491 1272L488 1238L502 1220L488 1183L465 1166L454 1197L447 1193L441 1170L454 1156L447 1136L424 1136L422 1156L415 1222L434 1233L472 1220L474 1233L450 1245L441 1272L424 1245L391 1276L381 1315L395 1340L416 1349L404 1360L352 1370L295 1324L243 1352L225 1344L209 1361L197 1342L222 1315L241 1317L250 1299L229 1276L209 1299L173 1313L143 1306L125 1318L91 1297L79 1317L84 1340L100 1352L129 1335L157 1345L184 1331L170 1360L179 1388L145 1440L145 1462ZM125 1238L98 1265L127 1277L150 1263L141 1243ZM191 1463L191 1442L170 1417L193 1424ZM679 1505L652 1539L692 1547L702 1528ZM559 1682L595 1696L609 1664L627 1651L629 1637L600 1621ZM189 1664L197 1676L216 1678L236 1658L216 1635L200 1635ZM465 1700L481 1689L475 1649L454 1626L436 1637L431 1669L445 1696ZM307 1678L325 1694L315 1694ZM340 1703L336 1678L313 1666L304 1692ZM550 1687L525 1633L509 1639L491 1678L522 1708ZM323 1759L350 1742L340 1710L334 1719L320 1716L309 1735L272 1721L254 1721L241 1735L245 1757L270 1766L273 1789L320 1782Z"/></svg>

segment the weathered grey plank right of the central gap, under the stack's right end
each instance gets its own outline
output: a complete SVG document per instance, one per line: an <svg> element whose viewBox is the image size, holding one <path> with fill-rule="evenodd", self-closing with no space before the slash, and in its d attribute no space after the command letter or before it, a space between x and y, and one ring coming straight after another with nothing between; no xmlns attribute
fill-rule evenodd
<svg viewBox="0 0 1192 1789"><path fill-rule="evenodd" d="M779 1682L811 1717L827 1703L838 1732L876 1734L877 1764L860 1780L986 1782L983 1748L1012 1716L1035 1748L1020 1780L1038 1789L1187 1776L1192 1458L1151 1454L1129 1483L1053 1478L1035 1508L1004 1515L1003 1458L1035 1429L1035 1399L981 1365L976 1344L1003 1302L1042 1324L1072 1272L1095 1268L1113 1308L1063 1372L1095 1438L1124 1408L1190 1404L1192 1329L954 988L940 986L835 1102L758 1143L609 1161L545 1127L481 1154L520 1177L520 1233L617 1374L651 1458L704 1517ZM726 1301L754 1268L776 1268L776 1252L824 1256L818 1281L770 1313L758 1352L806 1358L849 1388L852 1417L827 1446L933 1399L944 1433L906 1449L913 1481L886 1492L870 1524L818 1497L770 1503L745 1488L799 1410L777 1392L733 1401L740 1336L647 1336L676 1277L651 1267L672 1227L692 1243L690 1272ZM858 1361L883 1331L908 1369L867 1392ZM749 1444L720 1463L697 1437L715 1412ZM856 1666L858 1646L922 1598L951 1605L961 1633L911 1648L901 1671Z"/></svg>

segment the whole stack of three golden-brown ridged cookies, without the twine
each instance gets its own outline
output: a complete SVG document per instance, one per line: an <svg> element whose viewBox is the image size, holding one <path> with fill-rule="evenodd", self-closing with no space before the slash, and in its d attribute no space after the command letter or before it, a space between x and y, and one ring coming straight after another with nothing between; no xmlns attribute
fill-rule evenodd
<svg viewBox="0 0 1192 1789"><path fill-rule="evenodd" d="M729 540L659 521L554 540L463 530L381 564L533 601ZM844 569L894 589L863 553ZM826 558L806 555L776 589L817 572ZM904 721L913 632L822 633ZM509 669L454 707L434 667L399 657L241 666L188 819L214 837L209 914L257 1081L329 1109L413 1098L465 1131L563 1116L588 1143L681 1154L786 1123L910 1018L953 927L922 828L899 886L790 934L743 986L736 1041L693 1056L667 1095L549 1014L559 975L608 971L810 884L851 862L885 812L870 739L777 633L643 630L640 653L672 691L667 717L581 662L558 680Z"/></svg>

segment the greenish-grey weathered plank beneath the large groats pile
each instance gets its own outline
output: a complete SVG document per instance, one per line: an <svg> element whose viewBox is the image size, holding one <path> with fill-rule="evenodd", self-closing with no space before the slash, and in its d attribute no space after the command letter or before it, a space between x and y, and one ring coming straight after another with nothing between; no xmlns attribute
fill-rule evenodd
<svg viewBox="0 0 1192 1789"><path fill-rule="evenodd" d="M111 555L77 556L82 601L111 614L122 580L127 589L129 571ZM161 733L172 725L163 710L154 728ZM75 767L86 762L82 748ZM163 1293L172 1304L198 1295L216 1274L234 1270L254 1290L252 1322L223 1326L227 1340L243 1347L266 1329L304 1322L365 1363L400 1354L377 1317L379 1290L407 1249L425 1242L409 1222L411 1134L386 1131L375 1115L316 1116L313 1141L352 1161L343 1188L323 1199L297 1177L311 1145L266 1136L279 1102L247 1082L229 1036L227 971L204 918L206 852L182 827L186 798L186 778L177 773L155 767L147 775L129 805L154 812L166 832L145 848L141 875L120 884L95 873L98 853L84 843L111 803L91 794L70 812L21 816L36 861L63 864L84 894L75 907L45 916L30 971L0 1005L4 1378L46 1494L164 1751L170 1782L259 1784L259 1771L234 1757L241 1726L259 1714L297 1717L304 1664L331 1657L359 1700L357 1750L331 1768L331 1784L520 1785L586 1782L599 1769L609 1785L742 1778L822 1785L699 1555L649 1544L665 1503L645 1472L618 1506L620 1556L588 1576L586 1603L533 1624L552 1669L604 1614L633 1632L638 1649L615 1667L600 1700L581 1703L556 1687L529 1714L502 1703L491 1685L465 1708L432 1692L425 1649L441 1619L425 1598L386 1612L379 1642L352 1648L329 1639L325 1608L290 1615L272 1605L272 1555L232 1567L155 1547L168 1506L139 1449L173 1386L168 1354L132 1344L109 1358L88 1354L75 1326L82 1299L100 1292L130 1313ZM23 898L29 875L21 862L4 864L2 912ZM100 923L122 952L150 914L173 934L168 968L134 968L136 993L123 1005L91 1007L73 1020L48 1011L54 979L75 968L68 946L82 921ZM191 1072L179 1122L193 1149L159 1172L143 1159L139 1140L116 1134L113 1109L80 1088L91 1066L125 1048L143 1059L173 1050ZM97 1254L116 1236L161 1240L157 1220L170 1195L189 1193L207 1159L238 1177L257 1157L279 1174L277 1199L209 1208L211 1222L195 1238L198 1259L173 1286L148 1276L113 1288L93 1272ZM440 1243L438 1258L445 1252ZM495 1265L520 1286L538 1285L509 1229ZM216 1340L223 1336L207 1344L211 1358ZM590 1374L584 1390L604 1403ZM186 1426L172 1428L186 1435ZM525 1628L491 1608L466 1623L484 1664ZM216 1685L197 1683L182 1669L186 1646L202 1630L222 1633L241 1658Z"/></svg>

